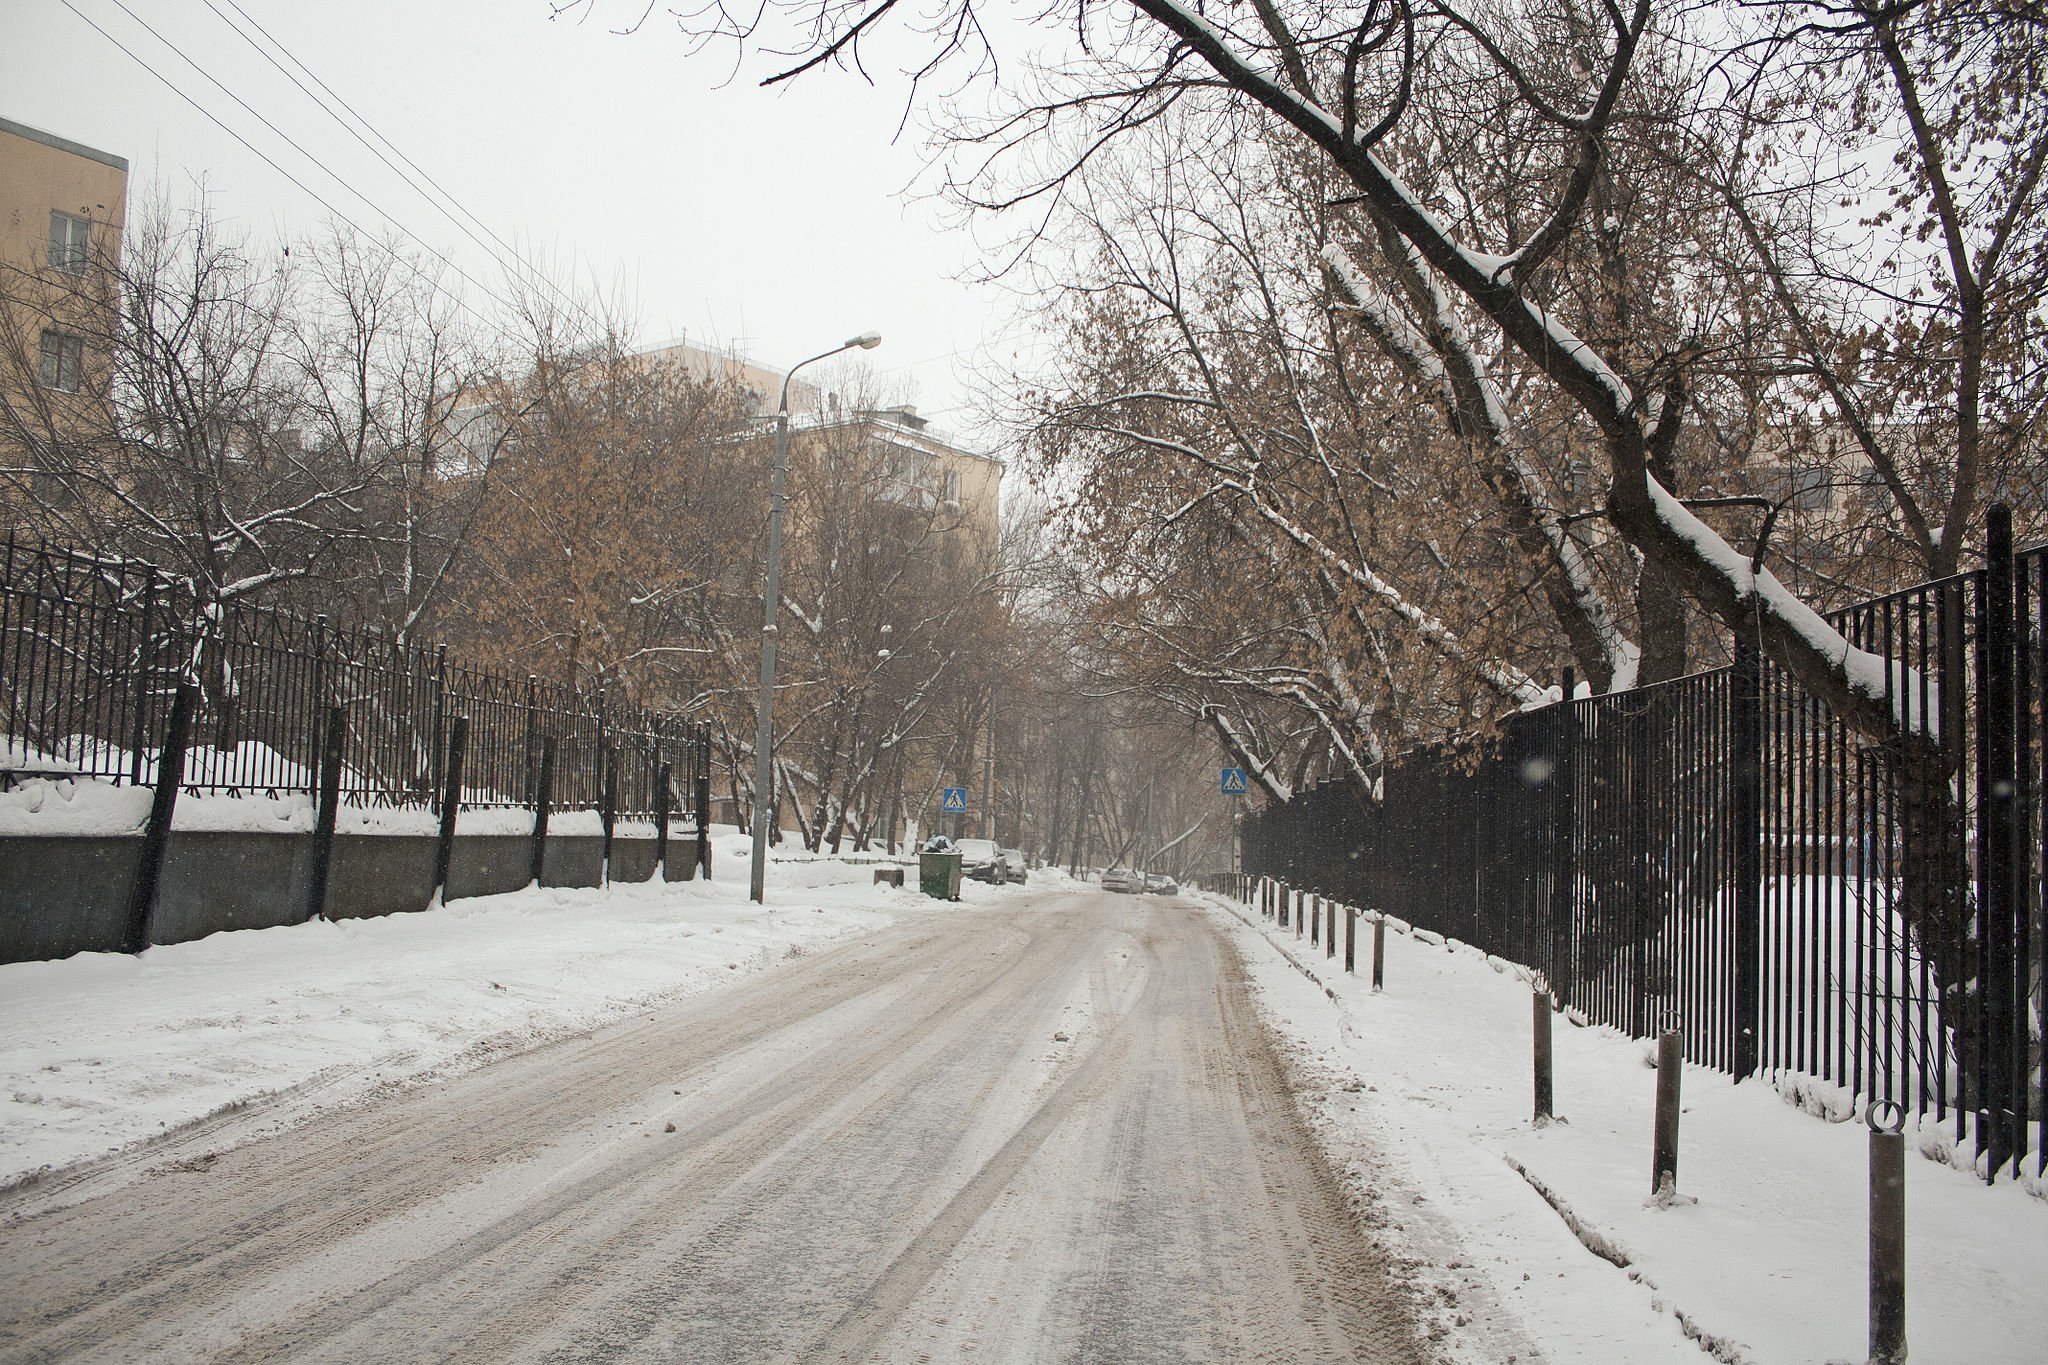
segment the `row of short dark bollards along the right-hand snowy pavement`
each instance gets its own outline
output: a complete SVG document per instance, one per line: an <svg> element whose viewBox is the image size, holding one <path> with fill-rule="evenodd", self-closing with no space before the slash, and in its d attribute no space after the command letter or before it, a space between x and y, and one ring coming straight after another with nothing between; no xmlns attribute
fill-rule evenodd
<svg viewBox="0 0 2048 1365"><path fill-rule="evenodd" d="M1337 954L1337 902L1268 878L1245 878L1241 898L1294 937L1307 933L1325 958ZM1358 907L1343 907L1343 970L1358 972ZM1307 921L1307 923L1305 923ZM1386 982L1386 915L1372 915L1372 990ZM1552 1015L1563 1009L1542 984L1530 995L1532 1097L1538 1128L1556 1119ZM1651 1201L1679 1203L1677 1138L1686 1040L1679 1029L1657 1038L1657 1105L1651 1132ZM1872 1103L1870 1126L1870 1365L1903 1365L1907 1359L1907 1171L1905 1109Z"/></svg>

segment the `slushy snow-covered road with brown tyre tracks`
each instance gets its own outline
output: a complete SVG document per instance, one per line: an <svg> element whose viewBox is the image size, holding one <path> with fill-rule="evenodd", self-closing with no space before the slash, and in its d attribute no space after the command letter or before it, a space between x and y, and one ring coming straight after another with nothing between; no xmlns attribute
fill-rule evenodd
<svg viewBox="0 0 2048 1365"><path fill-rule="evenodd" d="M911 911L94 1179L10 1197L0 1357L1421 1359L1219 921L1157 898Z"/></svg>

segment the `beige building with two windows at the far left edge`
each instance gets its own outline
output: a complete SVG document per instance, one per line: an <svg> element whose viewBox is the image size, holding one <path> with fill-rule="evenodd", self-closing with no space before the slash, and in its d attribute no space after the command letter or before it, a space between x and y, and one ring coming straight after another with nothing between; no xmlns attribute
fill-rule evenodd
<svg viewBox="0 0 2048 1365"><path fill-rule="evenodd" d="M0 119L0 442L33 452L104 401L127 160Z"/></svg>

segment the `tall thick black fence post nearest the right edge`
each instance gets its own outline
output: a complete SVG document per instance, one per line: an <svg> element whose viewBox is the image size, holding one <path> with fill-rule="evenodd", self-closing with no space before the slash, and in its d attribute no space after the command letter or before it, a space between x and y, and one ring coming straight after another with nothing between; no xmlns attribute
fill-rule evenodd
<svg viewBox="0 0 2048 1365"><path fill-rule="evenodd" d="M1985 518L1985 598L1982 598L1982 743L1985 759L1976 769L1978 786L1978 860L1976 898L1978 954L1982 962L1982 1115L1978 1117L1976 1150L1991 1160L1985 1179L1995 1181L1999 1169L2019 1150L2015 1140L2025 1126L2025 1023L2013 1031L2017 999L2028 997L2028 966L2017 962L2017 917L2025 915L2019 890L2019 763L2015 753L2013 714L2013 514L2005 503L1991 503ZM2017 915L2015 915L2017 911ZM2019 968L2019 982L2013 968ZM2015 1054L2017 1046L2017 1054Z"/></svg>

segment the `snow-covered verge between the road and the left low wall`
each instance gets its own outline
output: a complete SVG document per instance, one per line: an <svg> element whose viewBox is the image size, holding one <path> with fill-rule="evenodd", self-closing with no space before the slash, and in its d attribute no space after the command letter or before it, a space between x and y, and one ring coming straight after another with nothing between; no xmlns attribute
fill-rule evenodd
<svg viewBox="0 0 2048 1365"><path fill-rule="evenodd" d="M776 857L762 913L748 841L717 831L715 860L715 882L528 888L0 966L0 1185L250 1101L274 1099L283 1124L477 1066L936 905L870 868Z"/></svg>

